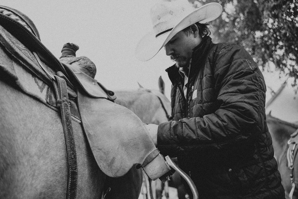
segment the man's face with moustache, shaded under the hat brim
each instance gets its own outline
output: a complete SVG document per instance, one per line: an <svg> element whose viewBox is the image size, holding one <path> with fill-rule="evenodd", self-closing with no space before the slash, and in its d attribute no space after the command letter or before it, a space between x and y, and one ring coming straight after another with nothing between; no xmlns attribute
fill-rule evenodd
<svg viewBox="0 0 298 199"><path fill-rule="evenodd" d="M196 47L197 41L193 33L188 36L183 30L178 32L170 41L164 46L166 55L176 62L177 67L189 67L189 62L192 56L192 50Z"/></svg>

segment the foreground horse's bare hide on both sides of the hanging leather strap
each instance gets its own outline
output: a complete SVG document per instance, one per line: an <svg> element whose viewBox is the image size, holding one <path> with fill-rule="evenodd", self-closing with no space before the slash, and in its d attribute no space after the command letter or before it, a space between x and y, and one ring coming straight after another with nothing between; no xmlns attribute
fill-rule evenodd
<svg viewBox="0 0 298 199"><path fill-rule="evenodd" d="M0 81L0 198L66 197L66 146L60 114L7 83ZM73 118L72 124L77 197L99 198L105 175L94 160L80 121Z"/></svg>

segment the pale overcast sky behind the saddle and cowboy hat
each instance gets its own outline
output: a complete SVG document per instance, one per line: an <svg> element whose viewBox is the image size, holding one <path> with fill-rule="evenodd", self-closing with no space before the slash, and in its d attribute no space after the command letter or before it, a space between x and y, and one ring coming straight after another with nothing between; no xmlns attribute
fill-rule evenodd
<svg viewBox="0 0 298 199"><path fill-rule="evenodd" d="M1 0L20 10L35 23L42 43L60 57L65 43L77 44L78 56L86 56L97 67L95 79L110 90L136 90L137 82L158 89L161 75L170 98L171 83L164 71L173 64L162 49L150 61L134 57L139 39L151 28L151 0ZM278 88L276 75L266 84ZM272 81L274 80L274 81ZM270 95L270 94L267 94Z"/></svg>

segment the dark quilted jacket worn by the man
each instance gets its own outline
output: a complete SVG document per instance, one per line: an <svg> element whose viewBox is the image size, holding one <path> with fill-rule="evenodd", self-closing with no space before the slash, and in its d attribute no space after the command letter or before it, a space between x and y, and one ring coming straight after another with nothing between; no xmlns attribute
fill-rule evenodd
<svg viewBox="0 0 298 199"><path fill-rule="evenodd" d="M157 146L194 181L199 198L285 198L265 116L266 86L252 57L233 43L204 37L184 78L175 65L173 121L159 125Z"/></svg>

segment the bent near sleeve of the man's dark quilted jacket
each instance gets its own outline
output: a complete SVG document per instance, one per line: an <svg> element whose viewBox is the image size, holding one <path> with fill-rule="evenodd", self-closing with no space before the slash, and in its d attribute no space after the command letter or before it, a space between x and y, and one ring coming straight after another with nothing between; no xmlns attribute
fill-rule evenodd
<svg viewBox="0 0 298 199"><path fill-rule="evenodd" d="M237 45L224 46L214 60L219 108L203 117L160 124L161 151L171 155L177 150L247 144L263 131L266 87L257 64Z"/></svg>

